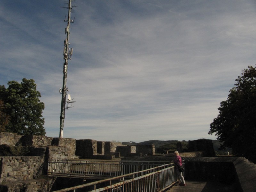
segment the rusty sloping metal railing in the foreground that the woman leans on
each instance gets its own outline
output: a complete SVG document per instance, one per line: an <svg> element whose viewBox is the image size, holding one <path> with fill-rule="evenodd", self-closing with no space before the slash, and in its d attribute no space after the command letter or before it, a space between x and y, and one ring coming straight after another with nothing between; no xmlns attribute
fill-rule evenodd
<svg viewBox="0 0 256 192"><path fill-rule="evenodd" d="M162 192L176 182L174 164L171 163L54 192L75 191L79 188L87 192Z"/></svg>

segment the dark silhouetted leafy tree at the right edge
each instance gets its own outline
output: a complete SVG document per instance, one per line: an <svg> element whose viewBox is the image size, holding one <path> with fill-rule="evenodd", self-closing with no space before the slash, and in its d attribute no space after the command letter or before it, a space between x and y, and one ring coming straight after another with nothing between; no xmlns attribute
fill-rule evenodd
<svg viewBox="0 0 256 192"><path fill-rule="evenodd" d="M217 135L221 148L256 162L256 67L248 66L236 79L208 134Z"/></svg>

